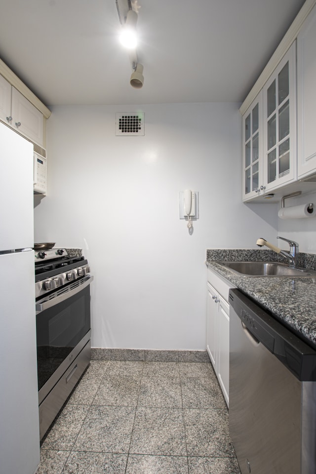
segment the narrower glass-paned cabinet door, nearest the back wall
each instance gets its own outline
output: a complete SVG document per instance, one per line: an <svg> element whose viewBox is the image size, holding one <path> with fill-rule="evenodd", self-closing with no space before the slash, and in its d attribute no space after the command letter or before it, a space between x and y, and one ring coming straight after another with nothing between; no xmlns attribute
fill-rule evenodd
<svg viewBox="0 0 316 474"><path fill-rule="evenodd" d="M263 191L262 97L261 91L242 117L243 200L258 196Z"/></svg>

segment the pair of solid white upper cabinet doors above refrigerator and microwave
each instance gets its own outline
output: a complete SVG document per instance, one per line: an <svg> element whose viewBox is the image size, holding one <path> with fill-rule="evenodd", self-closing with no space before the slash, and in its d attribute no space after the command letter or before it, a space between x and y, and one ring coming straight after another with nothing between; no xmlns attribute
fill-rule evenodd
<svg viewBox="0 0 316 474"><path fill-rule="evenodd" d="M32 142L44 146L42 113L2 76L0 119Z"/></svg>

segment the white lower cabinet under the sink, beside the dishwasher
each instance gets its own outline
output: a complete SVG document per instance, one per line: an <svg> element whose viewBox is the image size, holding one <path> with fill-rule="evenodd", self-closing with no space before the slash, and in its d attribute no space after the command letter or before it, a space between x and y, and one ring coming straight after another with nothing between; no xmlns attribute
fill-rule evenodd
<svg viewBox="0 0 316 474"><path fill-rule="evenodd" d="M229 289L234 288L207 270L206 349L229 406Z"/></svg>

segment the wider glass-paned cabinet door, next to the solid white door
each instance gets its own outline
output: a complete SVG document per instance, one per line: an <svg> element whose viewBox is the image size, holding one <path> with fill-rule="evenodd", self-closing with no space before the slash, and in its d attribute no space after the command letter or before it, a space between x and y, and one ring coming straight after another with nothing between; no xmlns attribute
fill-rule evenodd
<svg viewBox="0 0 316 474"><path fill-rule="evenodd" d="M264 185L271 191L296 178L296 48L285 54L263 88Z"/></svg>

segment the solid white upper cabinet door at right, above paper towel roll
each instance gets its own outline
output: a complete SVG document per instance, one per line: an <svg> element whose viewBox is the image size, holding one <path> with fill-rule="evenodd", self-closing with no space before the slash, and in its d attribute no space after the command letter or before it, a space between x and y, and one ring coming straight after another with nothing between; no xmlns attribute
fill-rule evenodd
<svg viewBox="0 0 316 474"><path fill-rule="evenodd" d="M297 37L298 178L316 173L316 6Z"/></svg>

